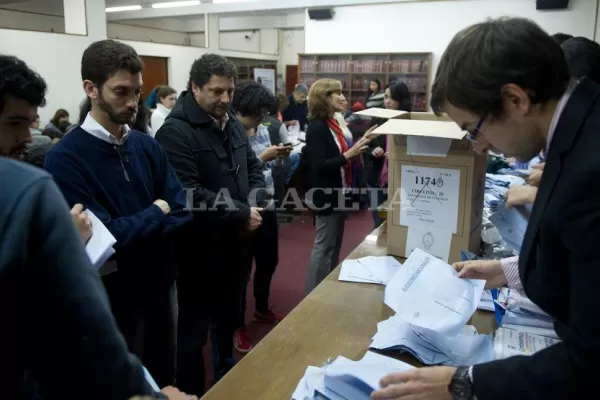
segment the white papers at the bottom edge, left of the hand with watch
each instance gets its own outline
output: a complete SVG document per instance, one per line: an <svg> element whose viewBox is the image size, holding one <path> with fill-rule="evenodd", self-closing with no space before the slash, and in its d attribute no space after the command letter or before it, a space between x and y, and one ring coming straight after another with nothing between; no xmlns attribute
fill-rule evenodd
<svg viewBox="0 0 600 400"><path fill-rule="evenodd" d="M308 367L292 400L368 400L371 393L379 389L381 378L413 368L402 361L372 352L367 352L360 361L340 356L322 368Z"/></svg>

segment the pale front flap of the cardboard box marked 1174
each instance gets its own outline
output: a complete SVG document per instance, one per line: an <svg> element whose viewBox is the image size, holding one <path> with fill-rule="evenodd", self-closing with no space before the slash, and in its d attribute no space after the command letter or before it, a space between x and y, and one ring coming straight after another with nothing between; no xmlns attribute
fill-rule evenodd
<svg viewBox="0 0 600 400"><path fill-rule="evenodd" d="M418 121L390 119L373 133L381 135L406 135L461 140L466 133L456 123L446 121Z"/></svg>

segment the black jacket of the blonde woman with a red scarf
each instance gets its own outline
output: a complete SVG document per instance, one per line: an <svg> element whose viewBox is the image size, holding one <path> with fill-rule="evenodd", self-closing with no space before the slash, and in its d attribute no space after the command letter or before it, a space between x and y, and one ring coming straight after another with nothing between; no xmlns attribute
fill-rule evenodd
<svg viewBox="0 0 600 400"><path fill-rule="evenodd" d="M341 154L327 121L310 121L303 150L310 171L311 187L306 200L316 207L316 214L331 214L334 208L346 203L341 172L346 157Z"/></svg>

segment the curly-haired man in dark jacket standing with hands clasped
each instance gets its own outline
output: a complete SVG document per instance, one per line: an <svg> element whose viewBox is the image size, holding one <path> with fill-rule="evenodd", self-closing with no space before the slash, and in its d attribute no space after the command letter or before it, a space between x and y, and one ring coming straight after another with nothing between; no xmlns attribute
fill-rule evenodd
<svg viewBox="0 0 600 400"><path fill-rule="evenodd" d="M233 332L251 263L250 237L262 223L259 206L266 197L262 163L229 112L236 79L229 60L203 55L192 65L188 90L156 134L194 209L178 252L177 382L198 395L204 392L202 347L209 322L218 350L215 378L234 364Z"/></svg>

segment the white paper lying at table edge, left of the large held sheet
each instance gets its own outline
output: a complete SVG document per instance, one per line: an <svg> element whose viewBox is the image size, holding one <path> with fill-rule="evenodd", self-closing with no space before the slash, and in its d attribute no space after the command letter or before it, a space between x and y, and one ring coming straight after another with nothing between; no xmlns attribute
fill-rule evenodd
<svg viewBox="0 0 600 400"><path fill-rule="evenodd" d="M386 285L401 266L400 262L390 256L345 260L342 263L339 280Z"/></svg>

